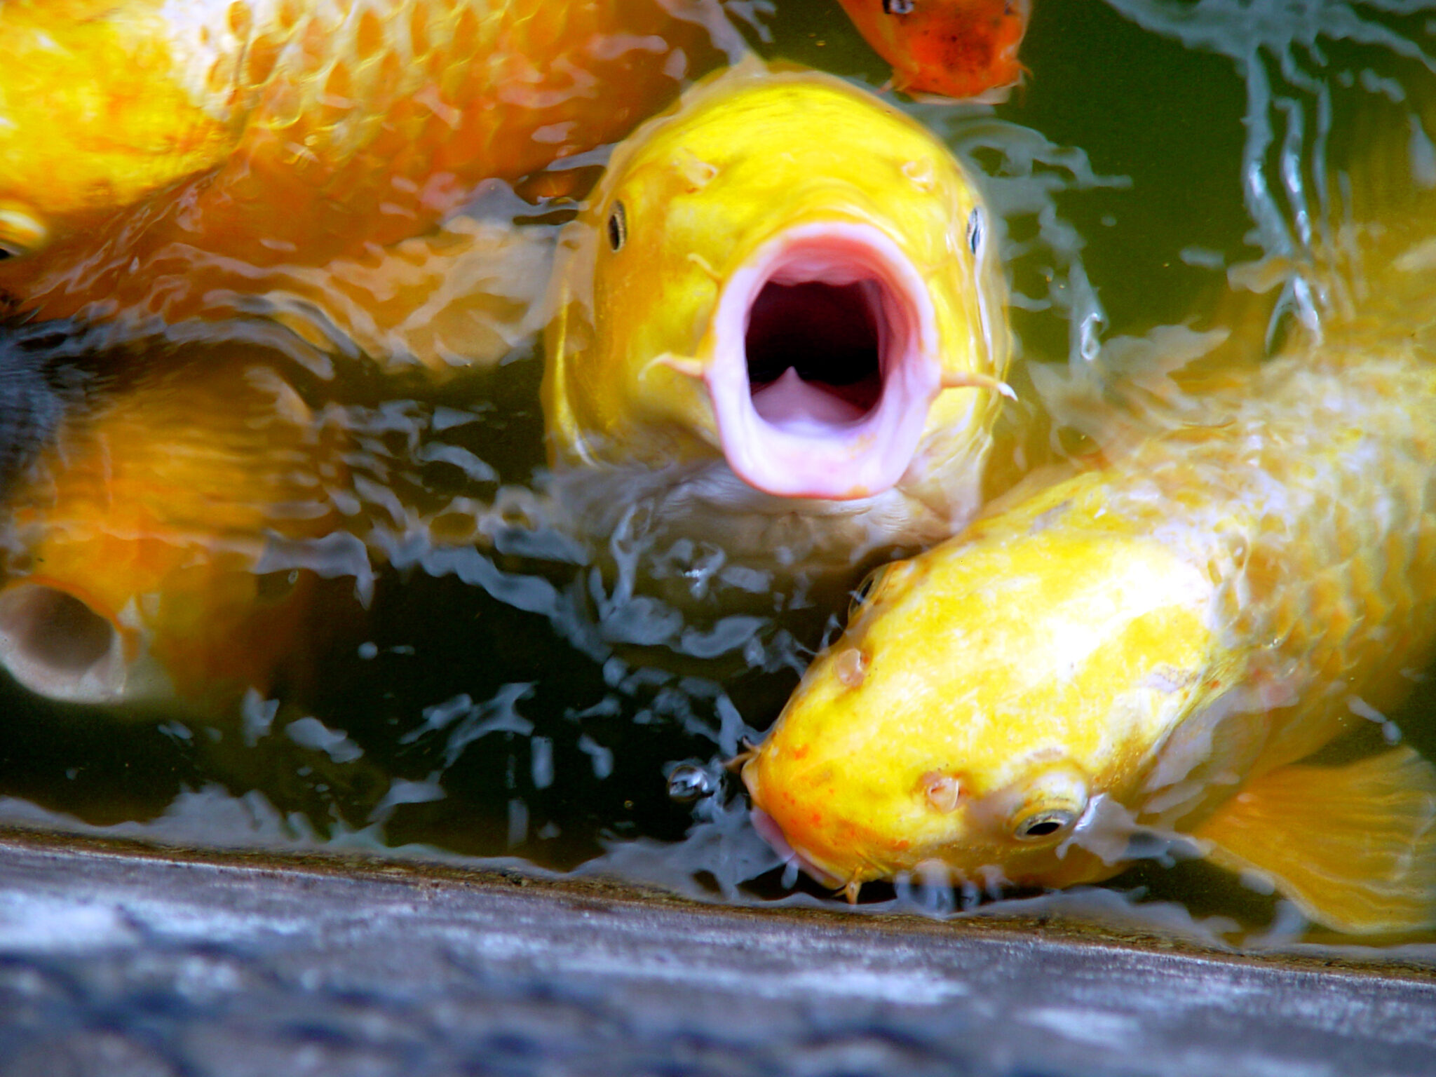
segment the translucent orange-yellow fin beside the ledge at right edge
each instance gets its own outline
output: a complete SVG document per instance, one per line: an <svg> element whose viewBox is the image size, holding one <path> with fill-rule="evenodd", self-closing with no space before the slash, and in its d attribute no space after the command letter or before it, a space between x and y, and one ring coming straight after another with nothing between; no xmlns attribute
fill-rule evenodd
<svg viewBox="0 0 1436 1077"><path fill-rule="evenodd" d="M1264 774L1196 830L1208 857L1269 879L1346 932L1436 923L1436 767L1410 748Z"/></svg>

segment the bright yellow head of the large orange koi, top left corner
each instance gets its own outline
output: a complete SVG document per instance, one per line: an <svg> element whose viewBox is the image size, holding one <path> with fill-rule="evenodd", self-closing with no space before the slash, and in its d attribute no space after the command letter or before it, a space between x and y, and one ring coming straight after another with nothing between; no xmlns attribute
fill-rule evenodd
<svg viewBox="0 0 1436 1077"><path fill-rule="evenodd" d="M217 164L233 72L185 53L159 4L0 4L0 253L23 257Z"/></svg>

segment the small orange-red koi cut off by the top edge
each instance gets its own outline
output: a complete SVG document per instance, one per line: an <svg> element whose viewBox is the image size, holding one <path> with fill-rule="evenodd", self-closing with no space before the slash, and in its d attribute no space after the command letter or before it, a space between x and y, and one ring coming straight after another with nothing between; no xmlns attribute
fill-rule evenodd
<svg viewBox="0 0 1436 1077"><path fill-rule="evenodd" d="M1017 49L1028 0L839 0L893 66L893 88L941 98L1002 99L1022 78Z"/></svg>

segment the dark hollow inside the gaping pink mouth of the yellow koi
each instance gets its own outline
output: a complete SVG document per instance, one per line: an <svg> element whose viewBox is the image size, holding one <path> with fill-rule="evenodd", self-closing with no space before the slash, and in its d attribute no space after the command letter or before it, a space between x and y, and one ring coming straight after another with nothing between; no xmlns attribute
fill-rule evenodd
<svg viewBox="0 0 1436 1077"><path fill-rule="evenodd" d="M853 418L877 406L883 369L876 289L872 280L763 286L744 335L748 385L760 414L761 392L790 369L808 391L852 408Z"/></svg>

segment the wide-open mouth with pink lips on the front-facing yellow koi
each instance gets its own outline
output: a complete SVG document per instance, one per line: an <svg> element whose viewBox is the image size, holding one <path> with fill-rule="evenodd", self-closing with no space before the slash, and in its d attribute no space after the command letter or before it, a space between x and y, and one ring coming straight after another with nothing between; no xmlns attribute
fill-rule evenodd
<svg viewBox="0 0 1436 1077"><path fill-rule="evenodd" d="M896 485L942 391L926 284L859 223L768 240L729 279L704 378L734 472L783 497Z"/></svg>

